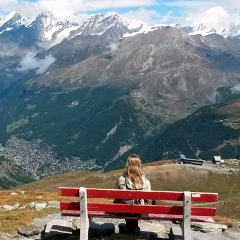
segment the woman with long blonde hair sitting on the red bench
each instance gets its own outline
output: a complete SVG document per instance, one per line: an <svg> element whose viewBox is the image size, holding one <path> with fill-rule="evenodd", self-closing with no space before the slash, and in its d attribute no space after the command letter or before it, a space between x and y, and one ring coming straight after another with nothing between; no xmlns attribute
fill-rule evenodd
<svg viewBox="0 0 240 240"><path fill-rule="evenodd" d="M145 177L141 170L141 159L138 155L132 154L128 157L126 162L126 171L116 182L116 189L123 190L144 190L151 191L150 181ZM115 199L114 203L124 204L144 204L143 199ZM127 216L139 216L139 214L128 214ZM138 233L138 220L125 219L126 228L129 232Z"/></svg>

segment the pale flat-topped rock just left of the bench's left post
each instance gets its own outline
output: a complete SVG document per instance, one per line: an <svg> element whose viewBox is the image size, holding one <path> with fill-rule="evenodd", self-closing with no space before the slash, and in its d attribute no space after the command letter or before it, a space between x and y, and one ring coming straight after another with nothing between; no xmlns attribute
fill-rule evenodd
<svg viewBox="0 0 240 240"><path fill-rule="evenodd" d="M66 239L72 232L72 221L52 220L45 226L45 239Z"/></svg>

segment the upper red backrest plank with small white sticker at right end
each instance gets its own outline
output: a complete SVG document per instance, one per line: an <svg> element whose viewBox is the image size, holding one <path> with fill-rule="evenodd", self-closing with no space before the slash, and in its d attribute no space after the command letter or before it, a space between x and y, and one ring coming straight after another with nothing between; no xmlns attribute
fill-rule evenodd
<svg viewBox="0 0 240 240"><path fill-rule="evenodd" d="M78 188L59 188L62 196L79 196ZM183 201L183 192L169 191L133 191L113 189L87 189L88 198L123 198L123 199L152 199L166 201ZM191 193L192 201L217 202L217 193Z"/></svg>

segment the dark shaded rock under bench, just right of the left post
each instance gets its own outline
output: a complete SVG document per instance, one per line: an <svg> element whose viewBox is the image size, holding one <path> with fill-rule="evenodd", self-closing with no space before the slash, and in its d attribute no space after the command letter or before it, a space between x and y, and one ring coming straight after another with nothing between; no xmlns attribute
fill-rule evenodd
<svg viewBox="0 0 240 240"><path fill-rule="evenodd" d="M89 225L89 237L111 236L114 232L115 225L113 223L91 222Z"/></svg>

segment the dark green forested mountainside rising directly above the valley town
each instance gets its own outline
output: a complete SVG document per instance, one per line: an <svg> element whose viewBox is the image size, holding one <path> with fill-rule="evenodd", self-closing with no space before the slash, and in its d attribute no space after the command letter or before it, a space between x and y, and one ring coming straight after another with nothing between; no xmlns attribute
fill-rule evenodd
<svg viewBox="0 0 240 240"><path fill-rule="evenodd" d="M159 121L136 110L125 94L114 86L63 91L20 83L0 104L0 143L11 136L39 139L62 161L79 157L103 166L121 147L146 139Z"/></svg>

